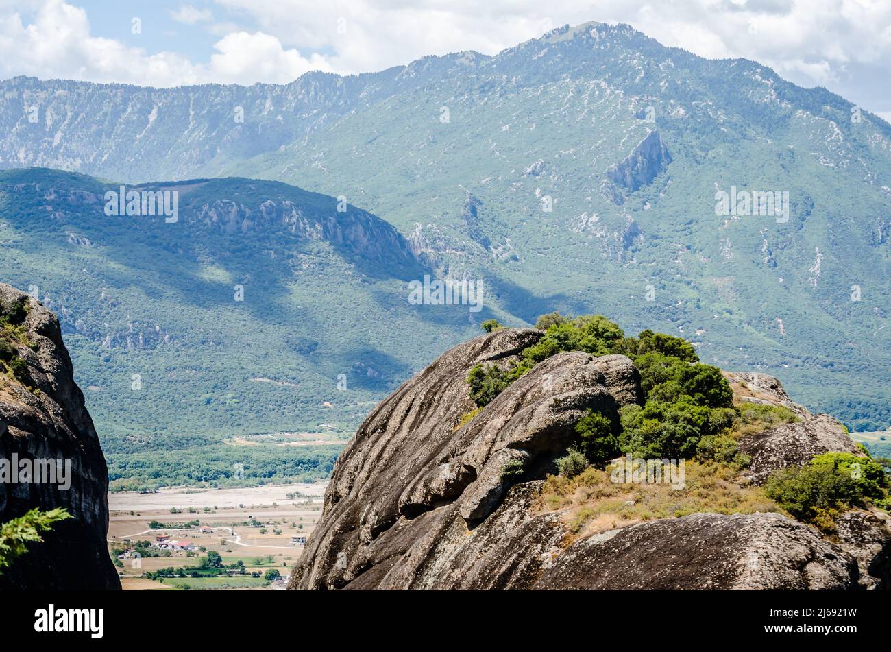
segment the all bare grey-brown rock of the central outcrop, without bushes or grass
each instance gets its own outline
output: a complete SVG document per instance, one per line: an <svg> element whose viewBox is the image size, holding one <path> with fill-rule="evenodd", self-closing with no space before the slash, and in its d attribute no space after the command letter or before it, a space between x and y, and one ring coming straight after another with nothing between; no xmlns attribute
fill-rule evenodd
<svg viewBox="0 0 891 652"><path fill-rule="evenodd" d="M772 513L693 514L581 538L559 513L534 513L536 478L572 442L584 411L609 415L640 400L625 356L564 353L457 428L473 407L470 368L507 363L541 335L498 330L456 346L380 403L337 462L291 589L853 589L887 581L891 533L874 515L849 518L838 544ZM775 379L760 381L774 400L788 400Z"/></svg>

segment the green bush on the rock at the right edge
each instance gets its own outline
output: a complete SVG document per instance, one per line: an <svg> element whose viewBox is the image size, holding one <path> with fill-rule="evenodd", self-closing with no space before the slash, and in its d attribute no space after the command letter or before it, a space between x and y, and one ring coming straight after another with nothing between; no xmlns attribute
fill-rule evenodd
<svg viewBox="0 0 891 652"><path fill-rule="evenodd" d="M891 508L889 485L879 462L848 452L827 452L803 467L774 471L764 491L798 520L831 530L840 512L863 507L867 501Z"/></svg>

